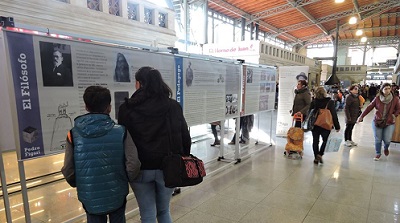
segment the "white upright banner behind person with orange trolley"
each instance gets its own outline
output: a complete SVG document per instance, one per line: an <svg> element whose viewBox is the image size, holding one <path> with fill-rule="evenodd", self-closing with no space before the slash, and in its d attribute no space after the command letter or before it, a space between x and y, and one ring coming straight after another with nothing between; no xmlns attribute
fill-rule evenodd
<svg viewBox="0 0 400 223"><path fill-rule="evenodd" d="M308 69L308 66L279 67L277 136L286 136L287 131L292 126L293 120L290 111L293 107L294 90L300 77L308 79Z"/></svg>

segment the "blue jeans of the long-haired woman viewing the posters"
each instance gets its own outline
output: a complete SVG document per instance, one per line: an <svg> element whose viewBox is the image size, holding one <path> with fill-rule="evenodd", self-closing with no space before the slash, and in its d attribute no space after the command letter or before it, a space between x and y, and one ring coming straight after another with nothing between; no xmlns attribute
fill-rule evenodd
<svg viewBox="0 0 400 223"><path fill-rule="evenodd" d="M131 183L142 223L171 223L169 203L173 188L165 187L162 170L141 170Z"/></svg>

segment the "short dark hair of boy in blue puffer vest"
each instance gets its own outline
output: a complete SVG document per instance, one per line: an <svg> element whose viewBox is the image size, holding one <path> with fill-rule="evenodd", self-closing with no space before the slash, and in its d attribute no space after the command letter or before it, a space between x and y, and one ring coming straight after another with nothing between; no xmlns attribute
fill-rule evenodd
<svg viewBox="0 0 400 223"><path fill-rule="evenodd" d="M111 104L110 90L101 86L90 86L83 94L83 101L89 112L104 113Z"/></svg>

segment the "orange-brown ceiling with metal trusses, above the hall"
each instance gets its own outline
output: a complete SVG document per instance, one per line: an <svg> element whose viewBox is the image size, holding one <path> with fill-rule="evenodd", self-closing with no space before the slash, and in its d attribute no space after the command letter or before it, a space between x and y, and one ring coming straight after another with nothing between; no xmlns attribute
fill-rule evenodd
<svg viewBox="0 0 400 223"><path fill-rule="evenodd" d="M369 42L400 42L400 0L208 0L208 8L293 45L331 42L337 21L342 44L359 42L358 29ZM352 16L357 23L349 25Z"/></svg>

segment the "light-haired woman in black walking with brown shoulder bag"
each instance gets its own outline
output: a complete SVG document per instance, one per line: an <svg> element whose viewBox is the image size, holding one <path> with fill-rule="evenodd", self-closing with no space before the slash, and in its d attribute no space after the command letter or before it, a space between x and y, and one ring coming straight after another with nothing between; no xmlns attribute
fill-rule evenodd
<svg viewBox="0 0 400 223"><path fill-rule="evenodd" d="M337 132L340 131L340 124L335 110L335 103L327 93L324 87L320 86L315 89L315 100L311 102L310 109L328 108L332 114L333 125ZM322 156L325 152L326 143L328 141L331 130L324 129L320 126L314 126L312 130L313 135L313 151L314 151L314 164L323 163ZM319 137L322 137L322 144L319 147Z"/></svg>

